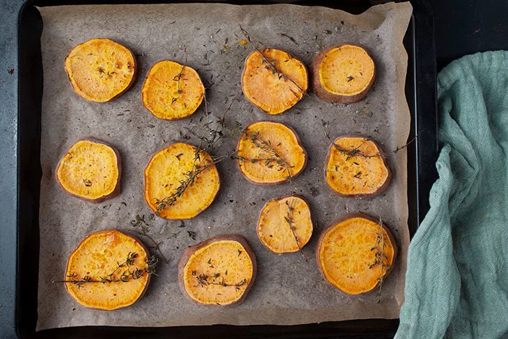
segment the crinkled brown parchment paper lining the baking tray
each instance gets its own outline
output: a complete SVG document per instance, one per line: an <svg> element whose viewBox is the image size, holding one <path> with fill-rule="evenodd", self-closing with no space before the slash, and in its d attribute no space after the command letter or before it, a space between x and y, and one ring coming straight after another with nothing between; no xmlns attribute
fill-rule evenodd
<svg viewBox="0 0 508 339"><path fill-rule="evenodd" d="M381 143L384 150L404 145L410 115L404 96L407 54L402 45L411 5L388 3L362 15L350 15L323 7L289 4L232 6L226 4L163 4L116 6L60 6L40 8L44 21L40 191L40 274L38 330L61 326L177 326L198 324L302 324L358 318L395 318L404 298L404 273L408 247L406 153L390 155L392 184L381 196L364 200L340 198L324 182L324 158L330 145L322 119L330 123L333 139L341 134L363 134ZM241 176L232 161L219 164L222 186L215 202L194 219L150 221L152 237L162 241L161 250L170 263L161 262L159 276L145 297L133 306L115 311L90 310L74 302L62 284L68 255L90 232L116 228L135 230L136 214L151 213L143 199L143 170L150 157L180 139L184 127L204 121L202 105L190 118L159 120L143 107L141 86L151 65L164 59L184 62L198 70L212 116L222 116L232 97L241 93L240 75L251 45L238 24L254 40L293 52L306 64L319 50L339 42L367 47L376 61L377 80L364 100L356 104L330 104L315 95L280 116L268 116L239 95L226 120L243 127L256 120L284 122L296 129L309 161L299 178L289 184L261 187ZM284 33L294 38L292 42ZM111 38L131 48L138 59L138 80L124 95L108 103L88 102L72 90L63 61L72 47L90 38ZM296 45L298 44L298 45ZM115 145L122 155L122 193L99 205L63 193L55 182L58 160L78 139L93 136ZM214 152L222 155L235 148L239 135L225 138ZM198 140L188 141L195 145ZM310 203L315 230L303 253L275 255L256 235L257 218L264 202L294 189ZM381 303L376 292L351 297L324 282L315 262L320 232L349 212L382 216L399 244L397 265L383 285ZM187 231L196 232L191 239ZM257 278L240 306L226 310L189 303L179 290L177 262L186 248L214 235L238 233L257 255ZM145 244L150 245L148 239ZM155 251L152 251L155 253Z"/></svg>

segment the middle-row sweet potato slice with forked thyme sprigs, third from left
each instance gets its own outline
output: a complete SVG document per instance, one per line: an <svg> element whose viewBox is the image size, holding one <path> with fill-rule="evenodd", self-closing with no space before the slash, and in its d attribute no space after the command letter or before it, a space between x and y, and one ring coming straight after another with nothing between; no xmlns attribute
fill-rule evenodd
<svg viewBox="0 0 508 339"><path fill-rule="evenodd" d="M237 146L241 173L255 184L283 184L299 175L307 152L291 127L273 121L248 125Z"/></svg>

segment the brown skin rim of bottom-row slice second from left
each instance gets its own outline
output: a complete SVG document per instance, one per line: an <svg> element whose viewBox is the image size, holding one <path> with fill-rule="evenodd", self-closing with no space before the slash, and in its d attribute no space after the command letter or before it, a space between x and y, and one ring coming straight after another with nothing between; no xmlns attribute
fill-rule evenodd
<svg viewBox="0 0 508 339"><path fill-rule="evenodd" d="M235 242L239 242L241 244L241 246L244 246L244 249L245 249L248 257L251 258L252 272L253 272L252 278L251 278L251 281L248 283L247 287L245 287L244 294L242 294L240 299L238 299L237 301L228 303L228 305L217 305L216 303L212 303L212 304L200 303L200 302L192 299L191 296L189 296L189 294L187 294L187 291L185 290L184 267L194 252L198 251L199 249L202 249L205 246L208 246L209 244L212 244L212 242L219 242L221 240L232 240ZM241 235L216 235L215 237L211 237L211 238L205 240L204 242L200 242L199 244L189 246L184 251L184 254L182 255L182 259L180 259L180 262L178 262L178 285L180 285L180 291L182 291L182 294L184 294L186 299L189 299L196 305L205 306L208 308L229 308L232 306L237 306L240 303L242 303L244 301L244 299L247 297L248 292L251 290L251 287L252 287L252 285L255 281L255 278L256 278L256 274L257 274L256 256L255 256L254 252L252 251L251 246L248 246L247 240L244 237L242 237Z"/></svg>

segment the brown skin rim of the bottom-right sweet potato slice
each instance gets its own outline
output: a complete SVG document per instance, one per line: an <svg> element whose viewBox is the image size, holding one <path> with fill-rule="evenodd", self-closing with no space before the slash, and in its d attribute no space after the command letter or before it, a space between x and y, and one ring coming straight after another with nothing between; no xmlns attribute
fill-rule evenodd
<svg viewBox="0 0 508 339"><path fill-rule="evenodd" d="M351 214L347 214L347 215L341 216L339 219L333 221L330 225L328 225L323 230L323 232L321 232L321 235L319 235L319 239L317 239L317 246L316 246L317 268L319 268L319 271L321 272L321 274L322 274L322 276L324 278L324 281L326 281L326 283L332 285L336 289L340 290L340 292L342 292L344 294L349 294L349 293L346 293L346 292L342 291L339 287L333 285L333 283L331 283L331 281L328 281L328 279L324 275L323 267L321 265L321 260L319 258L319 251L320 251L321 246L322 246L322 244L324 242L324 237L326 236L326 233L328 233L330 230L332 230L332 228L337 226L339 223L342 223L344 221L347 221L347 220L353 219L353 218L363 218L363 219L367 219L369 221L372 221L374 223L379 223L379 220L374 219L374 218L372 218L372 216L368 216L367 214L363 214L363 213L351 213ZM383 276L383 278L386 278L388 276L388 274L390 274L390 272L392 271L393 267L395 266L395 263L397 262L397 254L399 253L399 249L398 249L398 246L397 246L397 242L395 242L395 238L392 235L392 232L386 226L385 223L383 223L383 230L385 230L386 234L388 234L388 238L390 239L390 242L392 243L392 246L393 246L393 262L392 262L392 265L390 266L390 268L388 268L388 270L386 271L386 273ZM374 285L374 287L372 287L372 290L369 290L369 291L366 291L366 292L362 292L362 293L357 293L357 294L349 294L349 295L367 294L367 293L372 292L373 290L375 290L378 285L379 285L379 283L376 283L376 285Z"/></svg>

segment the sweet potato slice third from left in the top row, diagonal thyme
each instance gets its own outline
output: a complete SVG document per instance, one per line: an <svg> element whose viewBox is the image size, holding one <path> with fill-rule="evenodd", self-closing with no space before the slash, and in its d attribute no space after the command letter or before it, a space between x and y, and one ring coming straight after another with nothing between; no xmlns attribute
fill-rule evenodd
<svg viewBox="0 0 508 339"><path fill-rule="evenodd" d="M301 100L307 88L305 64L288 52L265 48L245 60L241 89L250 102L268 114L287 111Z"/></svg>

